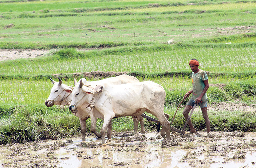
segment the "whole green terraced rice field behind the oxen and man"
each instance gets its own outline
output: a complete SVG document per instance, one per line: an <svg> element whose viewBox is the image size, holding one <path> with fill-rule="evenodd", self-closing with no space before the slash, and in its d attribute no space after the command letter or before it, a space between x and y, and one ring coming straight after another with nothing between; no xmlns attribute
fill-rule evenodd
<svg viewBox="0 0 256 168"><path fill-rule="evenodd" d="M171 121L192 88L192 58L209 77L211 130L255 132L255 18L254 0L0 0L0 144L80 136L79 118L68 107L44 105L49 78L57 76L69 86L74 77L93 81L118 72L152 80L165 89ZM183 128L188 100L173 127ZM191 120L206 131L199 107ZM93 135L90 125L88 119ZM133 122L114 119L112 130L132 131Z"/></svg>

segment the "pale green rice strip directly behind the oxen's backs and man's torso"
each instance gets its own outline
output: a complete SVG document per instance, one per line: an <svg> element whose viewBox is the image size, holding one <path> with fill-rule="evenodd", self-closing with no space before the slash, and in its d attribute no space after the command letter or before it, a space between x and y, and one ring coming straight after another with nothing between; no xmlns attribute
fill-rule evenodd
<svg viewBox="0 0 256 168"><path fill-rule="evenodd" d="M52 77L53 78L53 77ZM53 78L55 81L58 79ZM80 78L77 78L79 80ZM225 80L226 79L226 80ZM208 101L211 102L221 102L226 100L232 100L244 96L254 96L254 90L256 88L253 83L255 78L240 79L240 82L234 84L234 78L209 78L210 88L207 91ZM88 79L89 81L96 79ZM139 78L140 81L152 80L165 89L166 106L177 106L179 102L183 99L183 96L188 90L192 89L191 79L189 77L150 77L150 78ZM223 89L219 88L218 85L211 86L211 83L223 83ZM246 84L248 83L248 84ZM249 85L252 83L252 85ZM74 85L74 78L71 77L69 80L65 81L65 84L69 86ZM224 86L225 85L225 86ZM36 81L23 81L23 80L3 80L0 83L2 88L1 91L1 102L2 104L8 104L6 107L3 106L4 111L9 108L10 112L15 111L16 105L27 105L27 104L44 104L44 101L48 98L50 90L52 87L51 81L47 78L43 80ZM248 98L249 99L249 98ZM246 100L246 99L245 99ZM252 99L253 100L253 99ZM188 101L186 99L183 104ZM4 112L3 112L4 113ZM9 112L7 112L9 113Z"/></svg>

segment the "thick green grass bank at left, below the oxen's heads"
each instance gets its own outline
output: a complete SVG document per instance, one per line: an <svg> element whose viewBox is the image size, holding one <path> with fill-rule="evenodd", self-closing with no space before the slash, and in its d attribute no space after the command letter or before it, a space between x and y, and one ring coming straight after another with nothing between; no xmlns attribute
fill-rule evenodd
<svg viewBox="0 0 256 168"><path fill-rule="evenodd" d="M79 131L78 118L67 110L38 104L20 106L14 113L1 116L0 144L71 137Z"/></svg>

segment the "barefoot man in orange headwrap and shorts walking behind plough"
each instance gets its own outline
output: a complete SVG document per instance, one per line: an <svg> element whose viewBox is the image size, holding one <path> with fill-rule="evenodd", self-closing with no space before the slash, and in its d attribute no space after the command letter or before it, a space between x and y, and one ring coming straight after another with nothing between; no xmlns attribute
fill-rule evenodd
<svg viewBox="0 0 256 168"><path fill-rule="evenodd" d="M210 120L207 114L207 94L206 94L206 91L209 88L208 77L205 71L198 68L199 62L197 59L191 59L189 61L189 66L192 70L191 80L193 84L193 89L188 91L184 95L184 99L187 98L191 93L193 93L193 96L191 97L189 102L186 104L182 114L187 120L188 113L192 109L194 104L195 103L199 104L203 113L203 117L206 122L207 133L209 133L211 131L211 127L210 127ZM190 128L190 133L196 132L190 119L188 121L188 126Z"/></svg>

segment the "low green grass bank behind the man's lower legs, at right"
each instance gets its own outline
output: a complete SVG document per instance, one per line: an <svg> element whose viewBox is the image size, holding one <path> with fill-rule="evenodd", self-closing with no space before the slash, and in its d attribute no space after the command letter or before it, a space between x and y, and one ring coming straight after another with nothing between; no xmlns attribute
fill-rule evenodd
<svg viewBox="0 0 256 168"><path fill-rule="evenodd" d="M199 107L198 107L199 108ZM175 109L167 110L171 116L174 115ZM174 112L173 112L174 111ZM256 128L256 116L250 112L243 111L208 111L208 116L211 123L211 131L255 131ZM201 110L195 111L191 116L191 121L196 130L206 131L205 120L202 116ZM183 129L185 119L182 115L182 111L178 110L175 119L173 120L173 127ZM186 131L189 131L187 126Z"/></svg>

